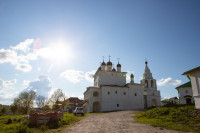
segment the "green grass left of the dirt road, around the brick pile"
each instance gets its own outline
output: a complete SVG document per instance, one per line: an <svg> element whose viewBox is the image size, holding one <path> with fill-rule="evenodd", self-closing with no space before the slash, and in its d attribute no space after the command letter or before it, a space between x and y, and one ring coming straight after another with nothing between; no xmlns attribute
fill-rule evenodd
<svg viewBox="0 0 200 133"><path fill-rule="evenodd" d="M25 115L5 115L0 116L0 133L51 133L60 132L67 126L78 122L83 117L75 117L73 114L64 113L63 118L59 121L57 129L50 129L42 125L38 128L29 128L28 120L23 119Z"/></svg>

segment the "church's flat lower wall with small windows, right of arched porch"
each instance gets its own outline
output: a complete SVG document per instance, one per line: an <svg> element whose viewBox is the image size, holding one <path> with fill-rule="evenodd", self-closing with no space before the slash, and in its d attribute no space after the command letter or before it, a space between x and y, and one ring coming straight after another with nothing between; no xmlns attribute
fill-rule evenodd
<svg viewBox="0 0 200 133"><path fill-rule="evenodd" d="M137 96L135 96L135 93L137 93ZM117 107L117 104L119 104L119 107ZM142 86L131 86L130 88L102 87L102 111L141 109L144 109Z"/></svg>

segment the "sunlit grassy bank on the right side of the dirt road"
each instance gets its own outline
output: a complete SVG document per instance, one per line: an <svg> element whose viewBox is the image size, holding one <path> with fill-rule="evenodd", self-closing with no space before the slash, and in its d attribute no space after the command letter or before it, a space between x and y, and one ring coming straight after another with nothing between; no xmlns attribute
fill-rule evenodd
<svg viewBox="0 0 200 133"><path fill-rule="evenodd" d="M138 122L157 127L200 132L200 113L194 112L194 106L158 107L142 112L134 118Z"/></svg>

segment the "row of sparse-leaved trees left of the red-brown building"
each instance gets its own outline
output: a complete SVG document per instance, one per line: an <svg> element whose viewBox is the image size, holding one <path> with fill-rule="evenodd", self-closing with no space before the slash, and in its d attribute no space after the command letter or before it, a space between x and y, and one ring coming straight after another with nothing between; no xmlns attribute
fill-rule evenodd
<svg viewBox="0 0 200 133"><path fill-rule="evenodd" d="M50 98L37 96L36 92L31 90L21 92L10 105L9 111L12 114L28 114L34 109L34 101L40 110L64 109L68 105L67 97L61 89L55 90Z"/></svg>

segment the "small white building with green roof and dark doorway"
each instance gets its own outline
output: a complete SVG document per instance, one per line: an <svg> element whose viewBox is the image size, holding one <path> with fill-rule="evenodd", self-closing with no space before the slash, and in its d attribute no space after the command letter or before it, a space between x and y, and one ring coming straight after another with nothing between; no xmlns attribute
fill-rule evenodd
<svg viewBox="0 0 200 133"><path fill-rule="evenodd" d="M191 82L184 83L176 87L179 96L180 104L191 104L194 103Z"/></svg>

